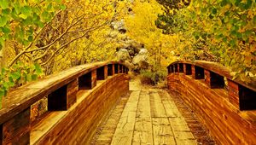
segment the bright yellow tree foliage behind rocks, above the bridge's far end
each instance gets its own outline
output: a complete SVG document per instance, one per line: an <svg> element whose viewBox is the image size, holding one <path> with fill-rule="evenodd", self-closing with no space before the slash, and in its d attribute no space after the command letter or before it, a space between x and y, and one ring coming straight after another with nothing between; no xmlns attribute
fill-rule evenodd
<svg viewBox="0 0 256 145"><path fill-rule="evenodd" d="M145 45L152 64L167 66L171 61L175 61L173 50L177 36L164 35L154 25L157 14L162 13L160 4L155 0L135 0L130 7L134 14L125 16L127 35Z"/></svg>

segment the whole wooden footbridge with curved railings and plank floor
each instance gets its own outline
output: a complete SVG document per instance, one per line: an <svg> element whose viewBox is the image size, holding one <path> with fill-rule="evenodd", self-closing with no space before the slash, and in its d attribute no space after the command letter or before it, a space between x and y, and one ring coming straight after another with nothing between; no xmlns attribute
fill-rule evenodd
<svg viewBox="0 0 256 145"><path fill-rule="evenodd" d="M255 84L232 80L225 67L207 61L177 61L167 70L169 93L129 89L129 69L116 61L23 85L3 97L0 144L196 144L172 95L193 109L217 144L256 144ZM47 111L32 119L42 99Z"/></svg>

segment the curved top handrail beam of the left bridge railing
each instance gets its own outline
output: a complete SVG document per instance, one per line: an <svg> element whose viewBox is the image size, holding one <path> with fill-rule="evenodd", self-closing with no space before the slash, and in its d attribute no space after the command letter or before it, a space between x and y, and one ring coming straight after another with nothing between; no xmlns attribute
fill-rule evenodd
<svg viewBox="0 0 256 145"><path fill-rule="evenodd" d="M3 108L0 110L0 124L11 119L27 107L30 107L34 102L47 96L62 85L68 84L74 78L79 78L79 76L89 73L98 67L115 63L119 62L103 61L72 67L61 73L56 73L46 78L39 79L36 82L23 85L22 87L9 92L8 96L3 97Z"/></svg>

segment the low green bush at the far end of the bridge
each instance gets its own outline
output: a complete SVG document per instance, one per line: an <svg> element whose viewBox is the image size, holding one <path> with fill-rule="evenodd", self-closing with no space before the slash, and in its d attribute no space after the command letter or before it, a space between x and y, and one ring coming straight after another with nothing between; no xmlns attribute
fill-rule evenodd
<svg viewBox="0 0 256 145"><path fill-rule="evenodd" d="M164 70L141 70L140 71L140 79L142 84L158 84L160 81L166 79L166 71Z"/></svg>

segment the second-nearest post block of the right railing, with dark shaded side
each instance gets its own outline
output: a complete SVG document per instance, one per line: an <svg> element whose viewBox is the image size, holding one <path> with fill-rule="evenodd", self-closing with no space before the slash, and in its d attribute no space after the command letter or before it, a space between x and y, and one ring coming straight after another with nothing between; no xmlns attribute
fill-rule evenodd
<svg viewBox="0 0 256 145"><path fill-rule="evenodd" d="M217 73L213 73L211 71L205 70L205 81L206 84L211 89L220 89L224 88L224 77L221 75L218 75Z"/></svg>

